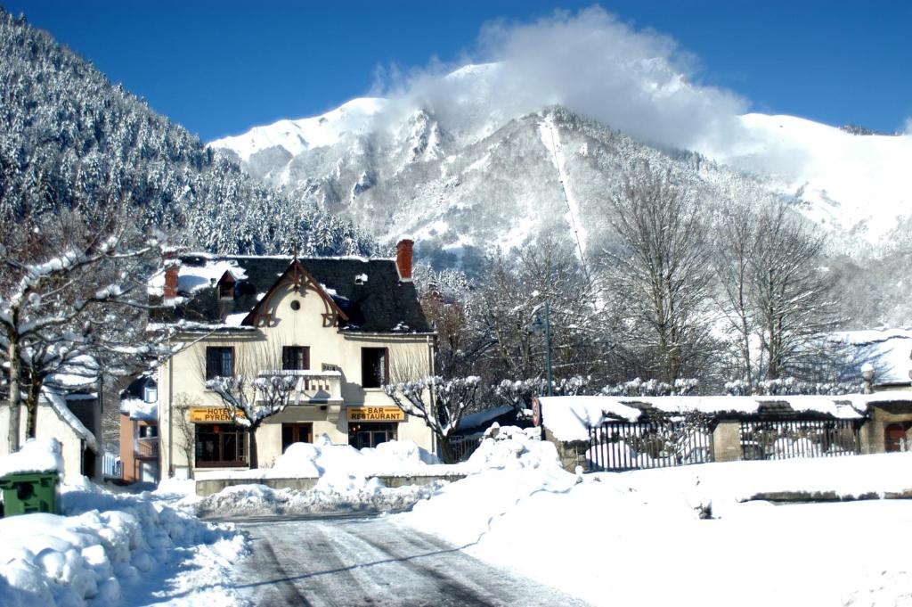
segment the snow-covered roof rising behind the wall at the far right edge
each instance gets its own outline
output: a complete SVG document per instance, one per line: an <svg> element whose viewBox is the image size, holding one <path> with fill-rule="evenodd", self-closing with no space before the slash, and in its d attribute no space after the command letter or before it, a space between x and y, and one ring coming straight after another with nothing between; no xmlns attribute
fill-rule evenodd
<svg viewBox="0 0 912 607"><path fill-rule="evenodd" d="M852 373L860 375L862 367L869 364L874 367L875 385L910 382L912 329L838 331L830 339L849 347Z"/></svg>

